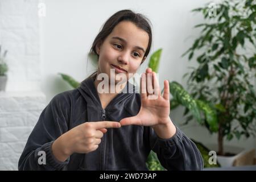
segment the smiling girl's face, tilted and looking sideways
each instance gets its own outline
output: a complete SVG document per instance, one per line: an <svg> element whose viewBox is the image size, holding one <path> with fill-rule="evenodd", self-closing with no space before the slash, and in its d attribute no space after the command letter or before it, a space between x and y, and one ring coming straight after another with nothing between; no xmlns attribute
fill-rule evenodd
<svg viewBox="0 0 256 182"><path fill-rule="evenodd" d="M127 80L129 73L136 73L142 61L146 59L144 53L148 46L149 37L146 31L129 21L122 21L114 27L113 31L96 47L99 55L99 73L106 73L110 78L110 69L117 73L124 73ZM120 71L117 67L123 69ZM113 75L112 75L113 76ZM119 78L115 77L115 82Z"/></svg>

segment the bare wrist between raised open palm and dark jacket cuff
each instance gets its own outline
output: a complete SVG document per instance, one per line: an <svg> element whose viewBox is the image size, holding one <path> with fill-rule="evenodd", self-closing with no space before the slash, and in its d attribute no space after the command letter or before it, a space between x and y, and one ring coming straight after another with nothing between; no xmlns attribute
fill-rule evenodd
<svg viewBox="0 0 256 182"><path fill-rule="evenodd" d="M159 138L168 139L175 135L176 127L174 123L172 123L170 117L168 120L169 121L167 122L167 124L158 124L158 125L152 126L156 135L158 135Z"/></svg>

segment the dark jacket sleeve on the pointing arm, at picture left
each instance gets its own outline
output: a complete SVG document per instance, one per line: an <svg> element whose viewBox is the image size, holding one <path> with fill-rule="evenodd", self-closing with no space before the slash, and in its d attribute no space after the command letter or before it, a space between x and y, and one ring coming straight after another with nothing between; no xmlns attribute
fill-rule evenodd
<svg viewBox="0 0 256 182"><path fill-rule="evenodd" d="M51 150L54 140L68 131L68 107L62 94L52 98L28 137L19 158L19 170L58 170L68 164L69 159L59 162Z"/></svg>

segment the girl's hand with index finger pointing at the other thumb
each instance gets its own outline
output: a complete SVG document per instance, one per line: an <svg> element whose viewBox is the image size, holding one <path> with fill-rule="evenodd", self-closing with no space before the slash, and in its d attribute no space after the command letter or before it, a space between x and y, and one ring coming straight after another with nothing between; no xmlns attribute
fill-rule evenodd
<svg viewBox="0 0 256 182"><path fill-rule="evenodd" d="M106 128L121 127L119 122L85 122L67 131L52 144L52 152L57 160L64 162L73 153L86 154L98 148Z"/></svg>

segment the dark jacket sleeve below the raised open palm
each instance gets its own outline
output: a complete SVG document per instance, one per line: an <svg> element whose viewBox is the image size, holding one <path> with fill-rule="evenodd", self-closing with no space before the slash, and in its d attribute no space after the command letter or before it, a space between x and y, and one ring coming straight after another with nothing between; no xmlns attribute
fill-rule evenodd
<svg viewBox="0 0 256 182"><path fill-rule="evenodd" d="M168 171L203 169L203 158L196 144L178 127L170 139L159 138L151 127L149 136L151 149L156 152L160 163Z"/></svg>

